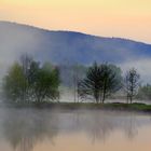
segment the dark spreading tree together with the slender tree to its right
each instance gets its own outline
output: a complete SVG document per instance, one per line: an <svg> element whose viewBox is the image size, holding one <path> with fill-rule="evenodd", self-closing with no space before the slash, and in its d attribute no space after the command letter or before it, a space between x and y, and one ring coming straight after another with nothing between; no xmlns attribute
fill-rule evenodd
<svg viewBox="0 0 151 151"><path fill-rule="evenodd" d="M93 99L96 104L105 102L106 98L120 90L123 90L127 96L127 102L133 101L137 95L140 76L137 70L129 69L125 77L122 71L114 65L94 63L88 68L86 77L77 83L78 98Z"/></svg>

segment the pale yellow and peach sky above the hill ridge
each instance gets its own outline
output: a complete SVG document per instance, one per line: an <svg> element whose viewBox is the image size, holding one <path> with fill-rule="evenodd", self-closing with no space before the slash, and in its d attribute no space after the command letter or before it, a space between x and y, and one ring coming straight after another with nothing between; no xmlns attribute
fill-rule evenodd
<svg viewBox="0 0 151 151"><path fill-rule="evenodd" d="M151 0L0 0L0 19L151 43Z"/></svg>

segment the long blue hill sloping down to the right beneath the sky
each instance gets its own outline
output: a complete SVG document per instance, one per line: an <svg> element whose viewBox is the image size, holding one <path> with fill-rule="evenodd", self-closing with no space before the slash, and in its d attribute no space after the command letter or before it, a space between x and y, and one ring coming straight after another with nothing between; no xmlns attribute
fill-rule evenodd
<svg viewBox="0 0 151 151"><path fill-rule="evenodd" d="M22 52L55 64L91 64L94 60L119 64L150 58L151 44L0 22L0 53L4 58L14 58Z"/></svg>

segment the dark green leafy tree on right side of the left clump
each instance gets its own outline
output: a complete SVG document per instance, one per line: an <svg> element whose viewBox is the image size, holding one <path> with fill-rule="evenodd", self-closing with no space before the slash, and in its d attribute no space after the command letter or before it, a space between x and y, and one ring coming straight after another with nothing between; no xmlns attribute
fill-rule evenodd
<svg viewBox="0 0 151 151"><path fill-rule="evenodd" d="M32 95L36 99L36 102L49 101L59 99L59 73L57 68L47 70L42 67L38 70L33 87Z"/></svg>

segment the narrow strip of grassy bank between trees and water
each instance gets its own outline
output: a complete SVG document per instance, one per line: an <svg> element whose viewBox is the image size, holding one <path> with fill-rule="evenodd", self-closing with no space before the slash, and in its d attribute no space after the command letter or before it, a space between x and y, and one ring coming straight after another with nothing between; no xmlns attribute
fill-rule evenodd
<svg viewBox="0 0 151 151"><path fill-rule="evenodd" d="M151 112L151 105L146 104L122 104L122 102L109 102L109 104L93 104L93 102L43 102L43 104L8 104L5 107L13 108L49 108L49 109L91 109L91 110L123 110L123 111L142 111Z"/></svg>

